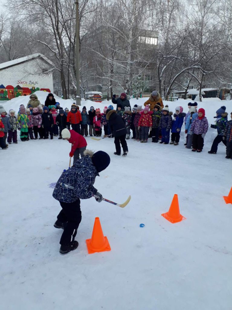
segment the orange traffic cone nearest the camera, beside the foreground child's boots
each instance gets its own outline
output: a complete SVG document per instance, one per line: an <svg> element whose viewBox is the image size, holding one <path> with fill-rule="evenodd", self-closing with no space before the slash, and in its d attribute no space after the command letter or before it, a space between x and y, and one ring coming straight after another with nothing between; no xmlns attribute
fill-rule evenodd
<svg viewBox="0 0 232 310"><path fill-rule="evenodd" d="M92 237L86 240L88 254L95 252L110 251L110 245L107 237L104 237L101 229L101 223L99 217L95 218L93 225Z"/></svg>

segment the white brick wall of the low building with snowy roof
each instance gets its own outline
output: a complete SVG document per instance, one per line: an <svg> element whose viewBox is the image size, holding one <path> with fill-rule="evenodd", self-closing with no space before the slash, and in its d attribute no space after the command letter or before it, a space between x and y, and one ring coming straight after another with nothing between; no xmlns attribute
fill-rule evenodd
<svg viewBox="0 0 232 310"><path fill-rule="evenodd" d="M17 85L21 87L32 86L39 88L49 88L53 92L53 78L50 76L41 75L42 69L48 69L49 65L41 59L32 59L15 66L0 70L0 85L3 84Z"/></svg>

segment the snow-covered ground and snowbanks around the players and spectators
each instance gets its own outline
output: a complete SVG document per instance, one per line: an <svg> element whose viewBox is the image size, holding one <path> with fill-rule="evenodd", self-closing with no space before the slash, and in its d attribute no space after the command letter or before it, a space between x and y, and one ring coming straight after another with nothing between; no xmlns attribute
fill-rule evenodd
<svg viewBox="0 0 232 310"><path fill-rule="evenodd" d="M63 108L70 108L68 101ZM187 103L168 105L187 112ZM18 111L19 104L15 99L4 106ZM105 102L82 104L103 110ZM207 100L198 107L205 108L210 124L223 104L230 113L228 101ZM19 140L0 150L2 309L231 309L232 205L222 196L232 186L232 160L225 159L224 145L217 155L207 153L215 135L209 128L202 153L184 147L184 131L178 146L130 139L126 158L114 156L114 139L87 137L89 149L111 157L95 187L110 200L122 203L131 195L131 201L121 209L82 200L79 247L63 256L62 231L53 227L61 208L52 192L68 167L70 144L54 137ZM171 224L161 213L174 194L186 220ZM89 255L85 240L97 216L111 251Z"/></svg>

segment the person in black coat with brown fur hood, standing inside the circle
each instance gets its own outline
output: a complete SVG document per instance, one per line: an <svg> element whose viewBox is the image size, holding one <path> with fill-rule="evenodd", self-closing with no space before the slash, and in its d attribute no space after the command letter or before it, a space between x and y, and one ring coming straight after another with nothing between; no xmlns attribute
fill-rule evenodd
<svg viewBox="0 0 232 310"><path fill-rule="evenodd" d="M121 146L120 146L121 143L123 149L122 156L123 157L127 156L128 153L128 147L126 141L127 129L125 123L123 122L122 117L117 114L116 110L107 109L106 119L110 126L110 130L114 135L114 144L116 148L116 152L114 152L114 154L121 155Z"/></svg>

